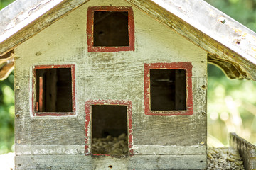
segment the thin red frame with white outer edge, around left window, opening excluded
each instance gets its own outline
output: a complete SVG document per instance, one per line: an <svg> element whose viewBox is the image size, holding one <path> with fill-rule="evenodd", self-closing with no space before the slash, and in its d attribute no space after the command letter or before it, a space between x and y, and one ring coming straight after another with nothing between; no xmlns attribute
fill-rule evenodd
<svg viewBox="0 0 256 170"><path fill-rule="evenodd" d="M33 66L33 77L36 77L36 69L54 69L54 68L70 68L71 80L72 80L72 100L73 111L72 112L38 112L36 111L36 82L32 79L32 114L33 116L60 116L60 115L75 115L75 65L63 64L63 65L36 65Z"/></svg>

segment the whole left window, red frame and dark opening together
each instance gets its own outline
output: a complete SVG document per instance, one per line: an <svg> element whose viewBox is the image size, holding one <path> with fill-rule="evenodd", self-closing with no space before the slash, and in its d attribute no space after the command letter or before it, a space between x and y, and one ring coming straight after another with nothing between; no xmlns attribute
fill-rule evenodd
<svg viewBox="0 0 256 170"><path fill-rule="evenodd" d="M36 66L33 74L33 115L75 113L73 65Z"/></svg>

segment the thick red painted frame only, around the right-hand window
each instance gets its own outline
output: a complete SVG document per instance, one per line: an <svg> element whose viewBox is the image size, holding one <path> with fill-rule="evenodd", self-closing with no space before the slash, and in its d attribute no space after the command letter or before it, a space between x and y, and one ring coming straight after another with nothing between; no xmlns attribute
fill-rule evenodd
<svg viewBox="0 0 256 170"><path fill-rule="evenodd" d="M186 70L186 110L182 111L151 111L150 108L150 69L185 69ZM144 106L146 115L192 115L192 64L191 62L150 63L144 64Z"/></svg>

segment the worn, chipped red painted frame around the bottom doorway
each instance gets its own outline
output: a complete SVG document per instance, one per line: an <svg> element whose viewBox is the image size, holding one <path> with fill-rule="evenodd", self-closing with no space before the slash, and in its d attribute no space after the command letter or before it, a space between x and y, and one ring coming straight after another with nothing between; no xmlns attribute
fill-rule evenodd
<svg viewBox="0 0 256 170"><path fill-rule="evenodd" d="M132 149L133 145L133 137L132 137L132 101L113 101L113 100L90 100L85 102L85 154L89 153L89 147L92 148L90 141L91 135L91 128L92 128L92 105L119 105L119 106L127 106L127 123L128 123L128 155L133 155L134 151ZM89 132L89 130L91 130ZM92 149L91 149L92 152ZM105 156L111 156L109 154L93 154L93 155L105 155Z"/></svg>

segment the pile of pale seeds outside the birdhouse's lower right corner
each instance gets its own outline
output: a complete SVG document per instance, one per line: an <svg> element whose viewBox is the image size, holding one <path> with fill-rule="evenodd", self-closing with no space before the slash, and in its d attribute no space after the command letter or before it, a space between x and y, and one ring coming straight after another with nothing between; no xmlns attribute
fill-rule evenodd
<svg viewBox="0 0 256 170"><path fill-rule="evenodd" d="M242 157L231 147L209 147L207 159L208 169L245 170Z"/></svg>

